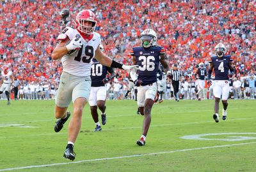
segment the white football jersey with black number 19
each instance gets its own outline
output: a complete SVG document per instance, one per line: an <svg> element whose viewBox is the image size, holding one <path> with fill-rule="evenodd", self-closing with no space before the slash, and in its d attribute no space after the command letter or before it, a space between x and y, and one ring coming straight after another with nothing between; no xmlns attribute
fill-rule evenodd
<svg viewBox="0 0 256 172"><path fill-rule="evenodd" d="M61 39L63 34L66 34L70 40L75 38L77 34L81 36L76 29L71 27L66 27L58 38ZM82 36L81 38L83 47L71 55L64 55L61 58L61 63L63 66L63 71L69 73L70 75L90 76L92 59L95 56L95 50L101 43L100 34L94 32L93 38L88 42L86 42Z"/></svg>

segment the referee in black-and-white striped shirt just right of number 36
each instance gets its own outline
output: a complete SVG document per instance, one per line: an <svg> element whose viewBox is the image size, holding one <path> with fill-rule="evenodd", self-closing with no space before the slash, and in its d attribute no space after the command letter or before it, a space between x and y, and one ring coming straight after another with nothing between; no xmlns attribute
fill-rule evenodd
<svg viewBox="0 0 256 172"><path fill-rule="evenodd" d="M180 80L180 70L177 68L177 64L173 65L173 69L170 73L171 78L172 78L172 87L173 87L173 94L175 97L175 101L179 101L177 97L177 92L179 92L179 80Z"/></svg>

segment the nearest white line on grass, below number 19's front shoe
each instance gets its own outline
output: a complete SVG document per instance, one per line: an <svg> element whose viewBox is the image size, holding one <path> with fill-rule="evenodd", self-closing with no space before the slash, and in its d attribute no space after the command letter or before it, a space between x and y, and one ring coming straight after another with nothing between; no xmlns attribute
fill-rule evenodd
<svg viewBox="0 0 256 172"><path fill-rule="evenodd" d="M66 164L78 164L81 162L92 162L92 161L104 161L104 160L111 160L111 159L123 159L123 158L131 158L131 157L142 157L142 156L149 156L149 155L159 155L159 154L172 154L175 152L186 152L191 150L204 150L207 148L221 148L221 147L233 147L233 146L239 146L239 145L250 145L256 143L255 142L249 142L249 143L237 143L237 144L230 144L230 145L220 145L220 146L214 146L214 147L202 147L202 148L187 148L182 150L172 150L172 151L166 151L166 152L155 152L150 154L137 154L137 155L126 155L122 157L106 157L106 158L100 158L100 159L88 159L83 161L75 161L75 162L62 162L62 163L55 163L55 164L43 164L38 166L23 166L23 167L17 167L17 168L5 168L0 169L0 171L11 171L15 169L30 169L30 168L43 168L43 167L50 167L50 166L61 166Z"/></svg>

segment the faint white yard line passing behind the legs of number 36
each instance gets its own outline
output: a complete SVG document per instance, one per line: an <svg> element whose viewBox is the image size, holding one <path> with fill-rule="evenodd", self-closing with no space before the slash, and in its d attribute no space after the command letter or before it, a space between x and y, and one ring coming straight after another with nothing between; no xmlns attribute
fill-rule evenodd
<svg viewBox="0 0 256 172"><path fill-rule="evenodd" d="M229 119L229 120L251 120L251 119L256 119L256 118L235 118L235 119ZM162 126L170 126L170 125L189 125L189 124L201 124L201 123L211 123L211 122L212 122L212 120L211 121L210 120L202 121L202 122L176 123L176 124L159 124L159 125L150 125L150 127L162 127ZM111 131L111 130L116 130L116 129L138 129L138 128L141 128L141 126L122 127L122 128L113 127L113 128L109 128L109 129L104 129L104 131ZM81 130L81 131L83 131L83 130ZM92 133L93 133L93 131L92 131ZM4 137L0 137L0 140L5 139L5 138L24 138L24 137L29 137L29 136L51 136L54 134L67 134L67 133L45 133L45 134L30 134L30 135L22 135L22 136L4 136Z"/></svg>

